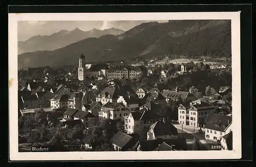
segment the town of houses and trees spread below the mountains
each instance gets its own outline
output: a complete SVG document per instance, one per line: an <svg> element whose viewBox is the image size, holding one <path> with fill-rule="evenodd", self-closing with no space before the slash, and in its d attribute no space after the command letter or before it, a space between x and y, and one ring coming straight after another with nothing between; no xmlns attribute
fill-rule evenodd
<svg viewBox="0 0 256 167"><path fill-rule="evenodd" d="M19 70L19 151L232 150L231 64L216 60L81 53L75 66Z"/></svg>

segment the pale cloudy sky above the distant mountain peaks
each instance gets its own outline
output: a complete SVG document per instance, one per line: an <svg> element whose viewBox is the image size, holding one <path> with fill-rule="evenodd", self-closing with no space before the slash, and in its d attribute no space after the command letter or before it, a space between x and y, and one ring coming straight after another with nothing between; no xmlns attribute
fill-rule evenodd
<svg viewBox="0 0 256 167"><path fill-rule="evenodd" d="M127 31L134 26L150 20L118 20L118 21L18 21L18 41L25 41L37 35L51 35L61 30L71 31L78 28L83 31L92 29L110 29L112 27ZM151 20L156 21L156 20ZM166 22L168 20L157 20Z"/></svg>

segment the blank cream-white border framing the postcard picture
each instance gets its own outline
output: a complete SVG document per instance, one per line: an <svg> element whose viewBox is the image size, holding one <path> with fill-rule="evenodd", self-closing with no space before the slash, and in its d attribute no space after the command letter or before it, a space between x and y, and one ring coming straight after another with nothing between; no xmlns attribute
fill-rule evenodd
<svg viewBox="0 0 256 167"><path fill-rule="evenodd" d="M150 151L150 152L18 152L17 115L17 21L21 20L231 20L232 49L232 151ZM25 31L25 30L24 30ZM10 160L157 160L157 159L240 159L241 74L240 12L173 13L11 13L9 14L9 155Z"/></svg>

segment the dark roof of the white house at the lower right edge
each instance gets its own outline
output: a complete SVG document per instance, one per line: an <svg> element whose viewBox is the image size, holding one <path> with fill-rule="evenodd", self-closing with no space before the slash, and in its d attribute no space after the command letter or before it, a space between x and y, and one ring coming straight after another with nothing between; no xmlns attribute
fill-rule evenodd
<svg viewBox="0 0 256 167"><path fill-rule="evenodd" d="M231 122L231 116L213 114L204 128L224 132Z"/></svg>

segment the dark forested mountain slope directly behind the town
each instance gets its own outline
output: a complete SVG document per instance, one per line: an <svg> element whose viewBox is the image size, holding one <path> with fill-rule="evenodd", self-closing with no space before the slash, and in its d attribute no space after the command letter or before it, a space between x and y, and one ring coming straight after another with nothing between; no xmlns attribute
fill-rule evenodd
<svg viewBox="0 0 256 167"><path fill-rule="evenodd" d="M53 51L27 52L18 55L18 67L73 65L79 55L86 62L121 60L162 55L206 55L231 57L230 20L172 20L147 22L120 35L87 38Z"/></svg>

